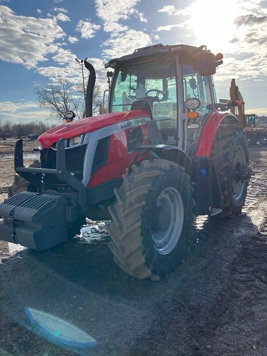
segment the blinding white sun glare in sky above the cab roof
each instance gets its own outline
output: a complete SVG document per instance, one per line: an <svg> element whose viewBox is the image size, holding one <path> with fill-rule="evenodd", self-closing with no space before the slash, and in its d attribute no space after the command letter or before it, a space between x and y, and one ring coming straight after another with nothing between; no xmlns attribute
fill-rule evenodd
<svg viewBox="0 0 267 356"><path fill-rule="evenodd" d="M213 51L229 48L238 16L235 0L198 0L190 5L190 13L189 27L199 45L207 45Z"/></svg>

